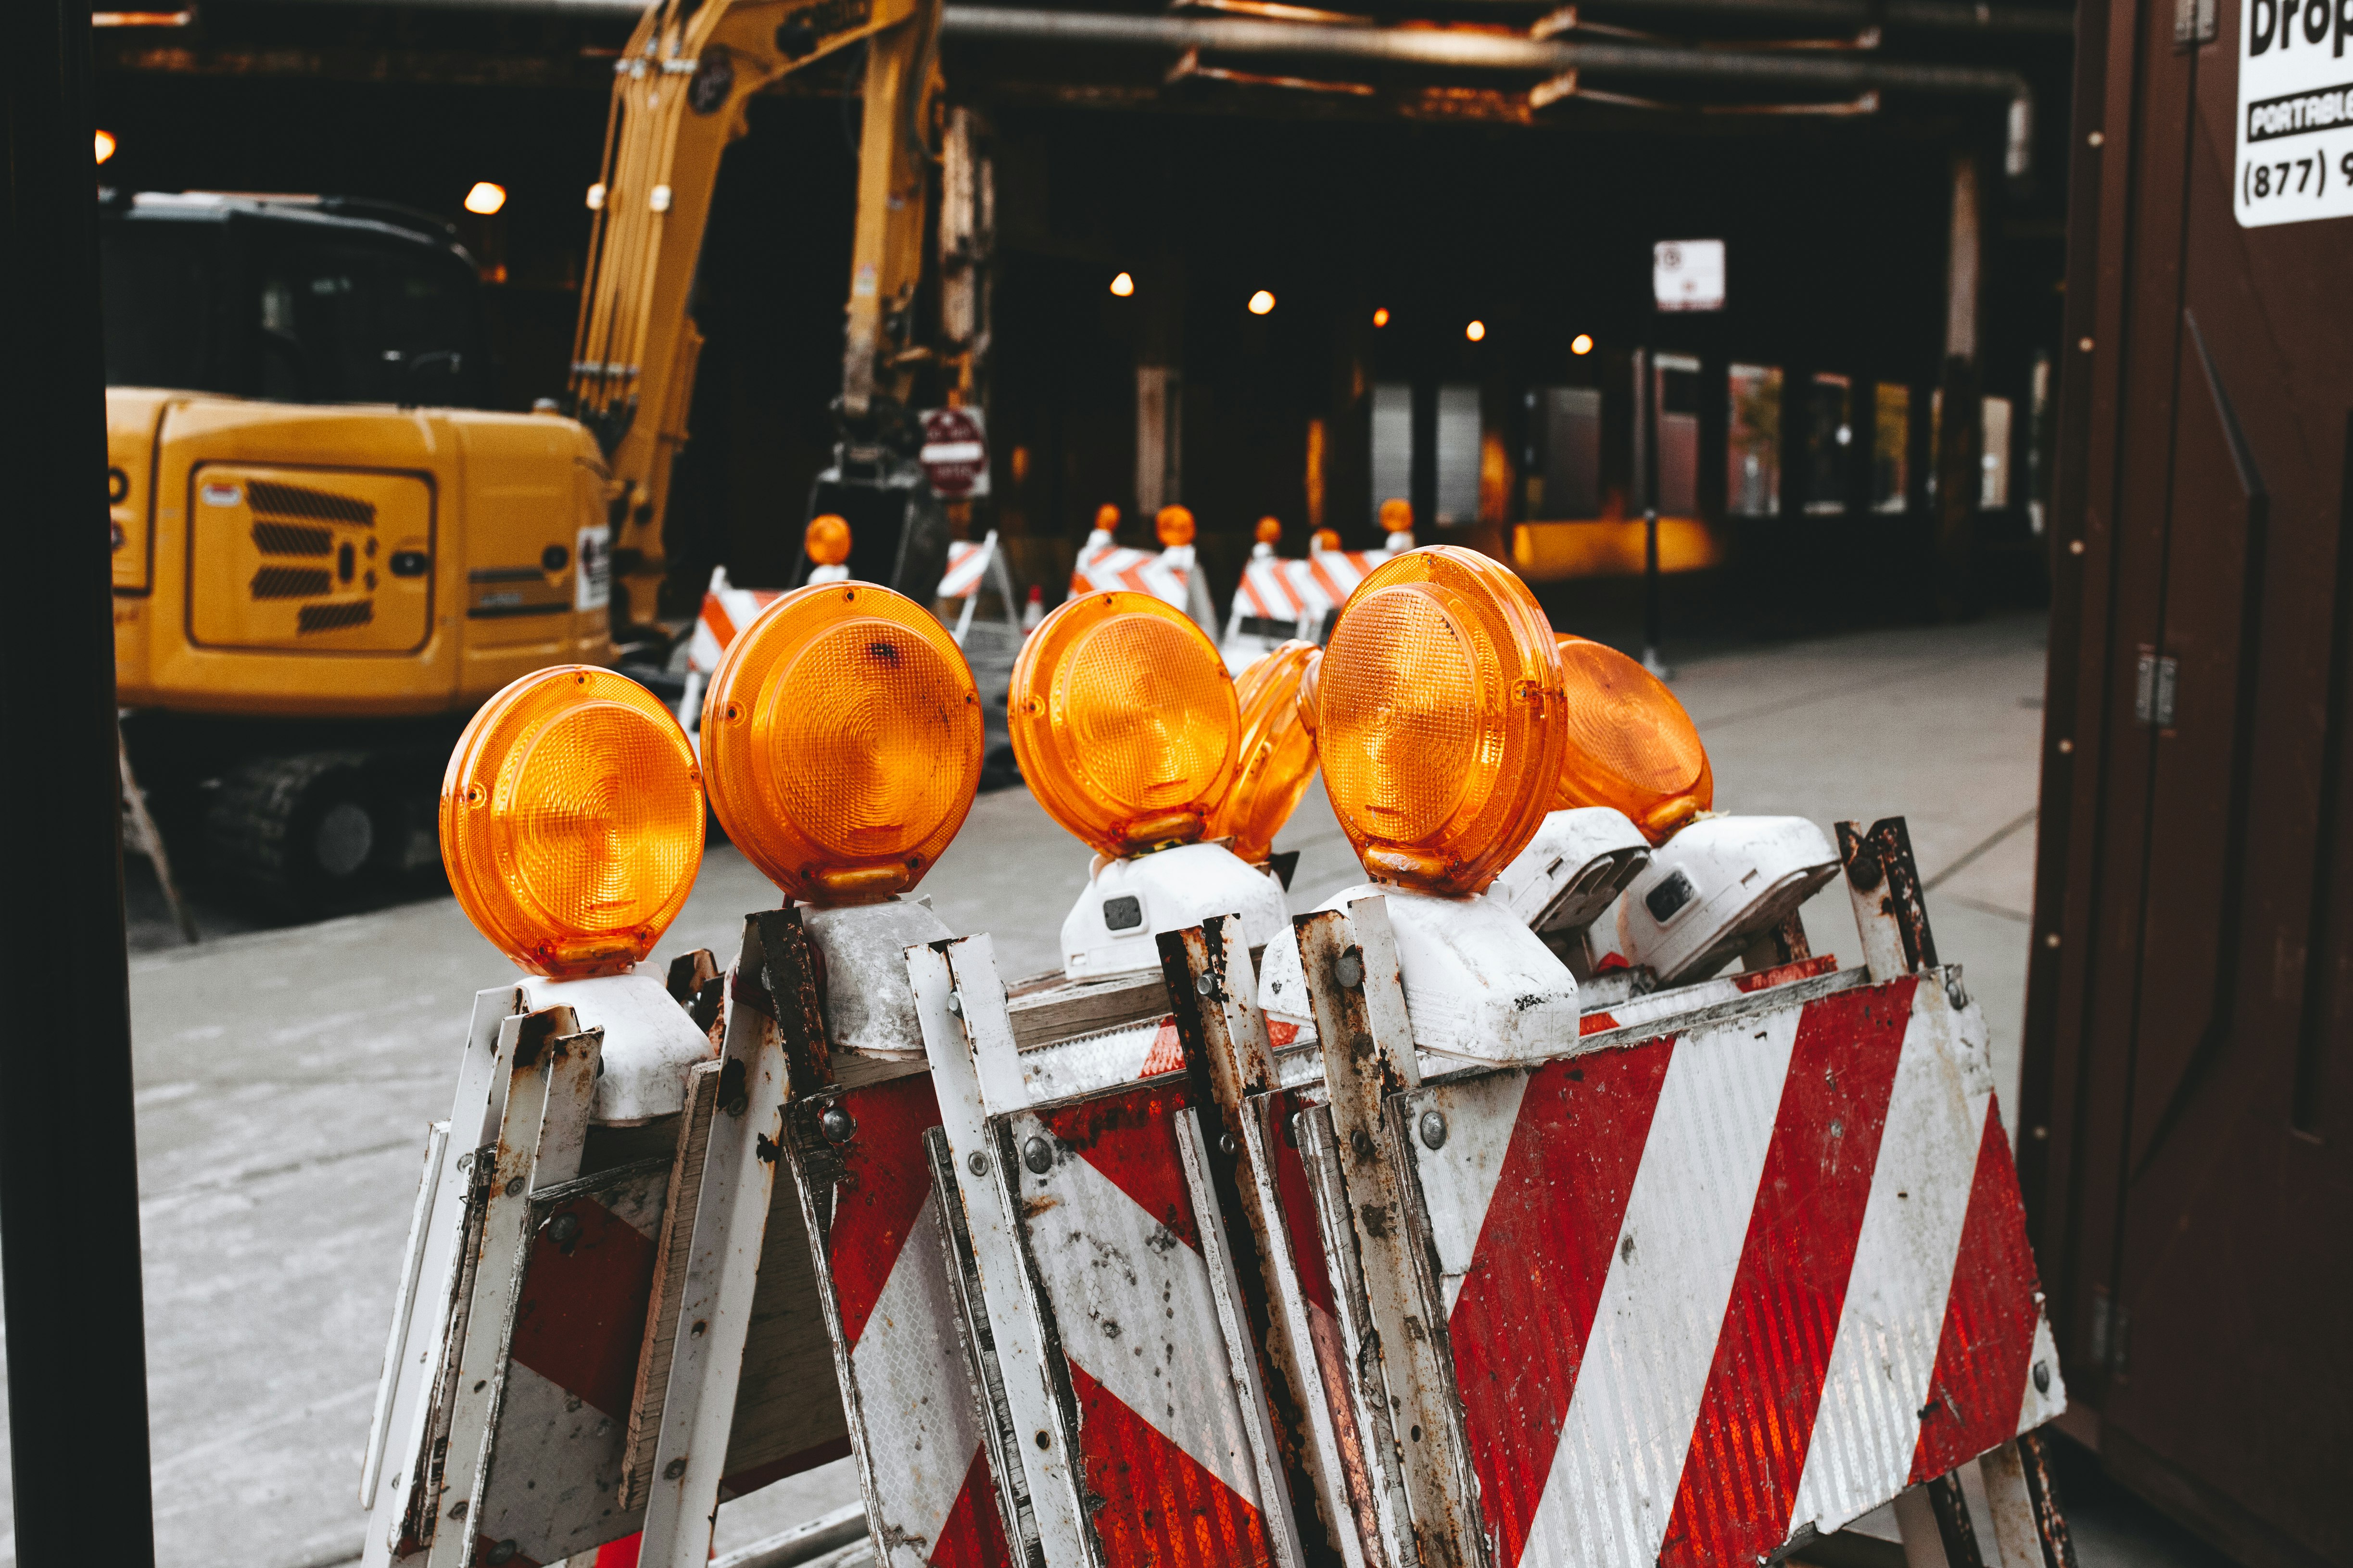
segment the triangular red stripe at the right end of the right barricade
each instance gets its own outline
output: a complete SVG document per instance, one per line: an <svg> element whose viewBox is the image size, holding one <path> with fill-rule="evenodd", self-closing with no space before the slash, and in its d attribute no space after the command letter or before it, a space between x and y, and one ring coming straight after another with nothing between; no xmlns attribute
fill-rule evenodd
<svg viewBox="0 0 2353 1568"><path fill-rule="evenodd" d="M2035 1354L2035 1255L2026 1246L2026 1204L1995 1103L1977 1140L1969 1218L1960 1225L1953 1288L1944 1302L1937 1373L1920 1410L1913 1481L2017 1436L2026 1363Z"/></svg>

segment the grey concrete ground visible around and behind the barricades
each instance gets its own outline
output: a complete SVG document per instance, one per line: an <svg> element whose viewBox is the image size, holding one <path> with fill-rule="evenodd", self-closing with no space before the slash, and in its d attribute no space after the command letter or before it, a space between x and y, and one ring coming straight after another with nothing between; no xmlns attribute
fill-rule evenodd
<svg viewBox="0 0 2353 1568"><path fill-rule="evenodd" d="M1720 809L1911 818L1939 952L1967 964L2012 1100L2042 623L1711 656L1675 691ZM1280 849L1301 851L1297 910L1360 879L1320 790ZM1054 964L1085 863L1007 790L974 806L922 891L953 929L993 931L1002 973L1021 976ZM744 912L774 898L713 846L654 961L729 954ZM447 1114L473 992L508 969L447 898L200 947L165 945L155 914L134 931L132 1013L158 1547L174 1568L341 1563L360 1542L353 1493L419 1143ZM1817 950L1859 961L1838 884L1807 926ZM720 1549L849 1497L847 1465L779 1483L722 1509ZM12 1547L9 1530L0 1568ZM2120 1561L2151 1559L2087 1552Z"/></svg>

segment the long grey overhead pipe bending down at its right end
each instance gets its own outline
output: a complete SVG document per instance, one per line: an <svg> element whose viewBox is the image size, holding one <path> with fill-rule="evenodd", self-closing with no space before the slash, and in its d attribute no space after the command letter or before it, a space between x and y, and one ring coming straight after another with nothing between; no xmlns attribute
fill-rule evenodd
<svg viewBox="0 0 2353 1568"><path fill-rule="evenodd" d="M2033 160L2033 87L1998 66L1939 66L1875 54L1791 54L1753 49L1675 49L1666 45L1518 38L1454 28L1313 26L1242 16L1118 16L1106 12L1047 12L995 5L951 5L941 14L951 40L1132 47L1184 54L1273 54L1285 59L1374 61L1431 71L1492 71L1560 78L1598 71L1647 80L1718 87L1807 89L1833 94L1922 92L2009 101L2012 176Z"/></svg>

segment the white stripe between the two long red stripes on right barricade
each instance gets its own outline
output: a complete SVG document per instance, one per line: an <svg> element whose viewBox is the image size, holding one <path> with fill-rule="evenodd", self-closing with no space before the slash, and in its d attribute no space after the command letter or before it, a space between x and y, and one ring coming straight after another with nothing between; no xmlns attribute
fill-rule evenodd
<svg viewBox="0 0 2353 1568"><path fill-rule="evenodd" d="M1522 1568L1659 1561L1800 1009L1675 1041Z"/></svg>

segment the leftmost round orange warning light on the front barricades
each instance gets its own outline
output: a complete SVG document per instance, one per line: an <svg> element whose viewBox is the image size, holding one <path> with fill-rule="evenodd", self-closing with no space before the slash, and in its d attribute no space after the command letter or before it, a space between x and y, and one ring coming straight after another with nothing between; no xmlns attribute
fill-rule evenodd
<svg viewBox="0 0 2353 1568"><path fill-rule="evenodd" d="M626 675L534 670L449 752L440 842L459 907L499 952L562 980L621 973L704 863L694 748Z"/></svg>

